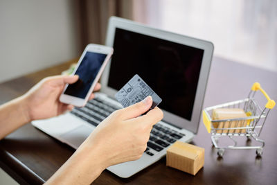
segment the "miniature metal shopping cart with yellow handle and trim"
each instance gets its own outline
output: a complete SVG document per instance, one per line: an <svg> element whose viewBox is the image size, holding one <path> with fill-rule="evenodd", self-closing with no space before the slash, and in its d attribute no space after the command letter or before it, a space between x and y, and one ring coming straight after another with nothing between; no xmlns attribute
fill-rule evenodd
<svg viewBox="0 0 277 185"><path fill-rule="evenodd" d="M258 90L267 98L267 104L263 108L261 108L254 99L256 91ZM267 93L260 87L260 84L255 82L248 98L204 109L203 122L208 133L211 133L211 140L213 146L217 149L217 155L222 157L226 149L256 149L256 155L261 156L265 141L259 139L260 132L262 132L262 127L265 125L270 109L274 106L274 100L271 100ZM241 118L213 120L213 110L222 108L243 109L246 116ZM237 139L235 139L237 136L245 136L247 139L254 139L258 141L258 145L238 146ZM229 137L231 141L233 141L233 145L219 146L219 141L222 137Z"/></svg>

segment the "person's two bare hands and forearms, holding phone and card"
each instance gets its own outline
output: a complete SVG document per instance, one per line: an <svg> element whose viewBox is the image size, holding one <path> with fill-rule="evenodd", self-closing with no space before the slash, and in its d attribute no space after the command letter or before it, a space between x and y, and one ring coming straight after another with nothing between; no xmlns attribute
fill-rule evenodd
<svg viewBox="0 0 277 185"><path fill-rule="evenodd" d="M59 101L66 83L78 76L44 78L26 94L0 106L0 139L30 121L58 116L73 109ZM100 89L97 84L94 90ZM93 98L91 94L90 98ZM117 110L96 127L82 145L46 184L90 184L102 170L125 161L139 159L150 137L152 126L161 121L158 107L147 112L152 98Z"/></svg>

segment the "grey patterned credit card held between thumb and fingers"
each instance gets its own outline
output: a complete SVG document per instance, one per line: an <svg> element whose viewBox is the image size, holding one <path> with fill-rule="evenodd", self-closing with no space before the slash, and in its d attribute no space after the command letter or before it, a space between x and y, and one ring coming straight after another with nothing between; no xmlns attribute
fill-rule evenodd
<svg viewBox="0 0 277 185"><path fill-rule="evenodd" d="M123 107L138 103L147 96L152 96L153 99L150 109L161 103L161 98L137 74L116 93L116 99Z"/></svg>

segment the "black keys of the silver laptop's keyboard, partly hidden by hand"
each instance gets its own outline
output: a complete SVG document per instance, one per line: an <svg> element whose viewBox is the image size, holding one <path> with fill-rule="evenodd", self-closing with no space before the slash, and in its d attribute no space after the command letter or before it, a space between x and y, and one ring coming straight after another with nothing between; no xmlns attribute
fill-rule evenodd
<svg viewBox="0 0 277 185"><path fill-rule="evenodd" d="M120 107L116 107L115 105L96 97L93 100L89 100L84 107L75 107L71 111L71 114L82 118L91 125L97 126L101 121L107 118L109 114L117 109L120 109ZM157 123L151 130L150 139L147 144L148 148L145 150L145 153L153 156L155 152L160 152L163 148L167 148L183 136L185 135L166 127L161 123Z"/></svg>

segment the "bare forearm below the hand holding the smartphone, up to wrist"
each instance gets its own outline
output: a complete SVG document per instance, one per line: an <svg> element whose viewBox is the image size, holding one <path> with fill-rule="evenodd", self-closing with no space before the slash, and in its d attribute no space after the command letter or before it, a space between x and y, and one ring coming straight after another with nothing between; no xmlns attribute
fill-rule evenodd
<svg viewBox="0 0 277 185"><path fill-rule="evenodd" d="M24 98L19 97L0 106L0 139L30 122Z"/></svg>

